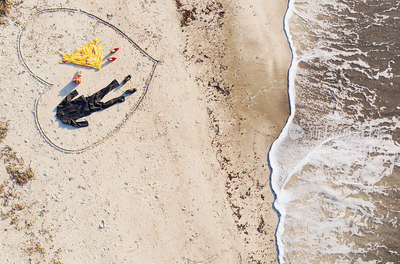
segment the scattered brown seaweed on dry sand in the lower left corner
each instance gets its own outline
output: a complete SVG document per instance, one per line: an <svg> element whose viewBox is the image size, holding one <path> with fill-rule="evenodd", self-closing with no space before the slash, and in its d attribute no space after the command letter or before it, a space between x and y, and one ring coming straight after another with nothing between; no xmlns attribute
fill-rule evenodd
<svg viewBox="0 0 400 264"><path fill-rule="evenodd" d="M8 124L0 121L0 143L7 136L7 128ZM27 201L20 195L21 188L34 177L32 168L24 165L22 158L9 146L0 150L0 159L4 161L11 179L0 183L0 226L5 227L3 232L11 228L22 232L26 240L20 244L23 245L20 249L27 255L27 263L62 264L58 256L61 249L54 249L54 229L36 221L37 217L42 218L48 212L46 204ZM5 221L8 221L8 226L4 225Z"/></svg>

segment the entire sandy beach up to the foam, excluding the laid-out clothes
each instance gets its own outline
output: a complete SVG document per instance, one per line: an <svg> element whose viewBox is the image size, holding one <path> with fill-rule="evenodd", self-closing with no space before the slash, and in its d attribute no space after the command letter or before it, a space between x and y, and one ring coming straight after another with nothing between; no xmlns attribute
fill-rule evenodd
<svg viewBox="0 0 400 264"><path fill-rule="evenodd" d="M21 31L46 8L81 9L117 27L159 61L152 79L125 36L80 11L44 12ZM275 263L267 152L288 116L285 9L280 0L25 0L11 7L0 27L0 117L8 120L0 144L35 177L20 186L0 166L1 182L8 181L0 188L0 261ZM56 48L71 52L96 35L104 53L120 45L119 60L68 84L78 68L53 65ZM87 131L54 117L73 88L86 95L132 73L126 85L140 93L85 118Z"/></svg>

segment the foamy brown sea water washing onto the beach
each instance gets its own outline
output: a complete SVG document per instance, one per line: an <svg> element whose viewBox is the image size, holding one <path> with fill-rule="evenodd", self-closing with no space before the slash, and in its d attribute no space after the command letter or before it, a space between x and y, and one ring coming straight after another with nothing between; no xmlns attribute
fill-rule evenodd
<svg viewBox="0 0 400 264"><path fill-rule="evenodd" d="M400 1L290 0L279 262L400 263Z"/></svg>

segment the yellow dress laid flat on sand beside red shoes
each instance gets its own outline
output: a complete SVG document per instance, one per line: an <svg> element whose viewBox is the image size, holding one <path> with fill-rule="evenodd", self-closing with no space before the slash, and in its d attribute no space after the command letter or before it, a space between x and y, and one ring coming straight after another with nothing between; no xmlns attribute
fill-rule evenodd
<svg viewBox="0 0 400 264"><path fill-rule="evenodd" d="M61 55L62 55L62 60L60 60L59 62L62 63L72 62L78 65L84 65L93 67L95 69L100 69L103 50L101 48L100 41L98 41L98 38L96 38L93 41L79 47L73 53L70 54L67 53Z"/></svg>

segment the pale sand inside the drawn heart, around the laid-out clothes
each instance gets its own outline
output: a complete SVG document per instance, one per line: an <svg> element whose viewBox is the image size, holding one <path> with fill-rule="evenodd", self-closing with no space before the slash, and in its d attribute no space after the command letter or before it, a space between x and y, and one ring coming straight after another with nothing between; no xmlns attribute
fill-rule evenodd
<svg viewBox="0 0 400 264"><path fill-rule="evenodd" d="M100 70L72 63L56 64L60 59L56 52L72 53L95 38L103 49ZM115 47L119 50L112 56L117 59L107 61L109 50ZM44 84L34 109L40 132L52 146L72 152L101 143L123 125L143 99L157 63L116 27L89 13L63 8L34 14L21 30L18 50L28 70ZM75 84L72 78L79 69L84 71L82 83ZM81 118L88 121L88 127L65 125L56 117L57 105L70 91L76 89L78 96L87 96L113 79L121 82L128 74L132 76L130 81L109 92L102 101L120 96L127 89L137 91L124 94L123 103Z"/></svg>

